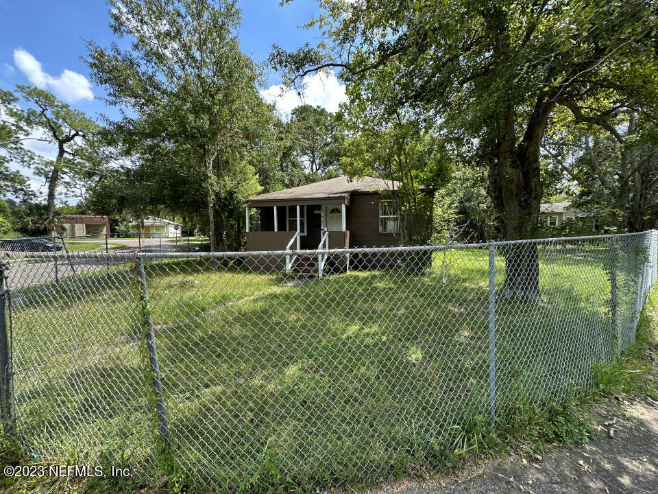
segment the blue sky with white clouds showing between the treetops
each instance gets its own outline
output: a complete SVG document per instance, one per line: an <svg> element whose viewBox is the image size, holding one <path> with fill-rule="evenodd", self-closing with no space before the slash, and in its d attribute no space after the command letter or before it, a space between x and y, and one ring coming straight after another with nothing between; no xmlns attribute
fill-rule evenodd
<svg viewBox="0 0 658 494"><path fill-rule="evenodd" d="M315 0L295 0L280 7L279 0L241 0L243 24L239 36L243 51L254 60L267 59L271 45L295 49L317 43L319 32L301 29L313 14L319 13ZM99 99L101 88L88 80L84 56L85 40L107 46L114 39L108 27L108 6L102 0L0 0L0 88L32 84L55 93L73 108L91 117L114 117L117 111ZM302 102L337 110L345 98L341 83L332 77L310 78L302 100L293 92L280 95L280 76L267 74L262 94L277 102L286 115ZM47 144L31 144L49 156ZM34 187L40 187L35 179Z"/></svg>

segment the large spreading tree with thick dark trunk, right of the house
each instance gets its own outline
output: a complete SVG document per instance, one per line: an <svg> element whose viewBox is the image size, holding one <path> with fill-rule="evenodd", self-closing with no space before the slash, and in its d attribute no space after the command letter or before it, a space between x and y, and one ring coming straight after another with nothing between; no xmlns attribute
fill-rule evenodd
<svg viewBox="0 0 658 494"><path fill-rule="evenodd" d="M539 150L557 106L602 123L620 102L646 110L658 101L657 6L650 0L321 5L326 13L309 24L328 43L294 53L274 47L273 67L284 69L289 84L340 69L348 90L383 96L382 117L402 107L426 125L476 139L508 239L529 237L537 225ZM587 108L592 99L600 104ZM505 255L505 290L538 294L537 250L522 244Z"/></svg>

